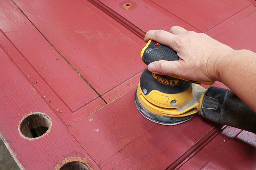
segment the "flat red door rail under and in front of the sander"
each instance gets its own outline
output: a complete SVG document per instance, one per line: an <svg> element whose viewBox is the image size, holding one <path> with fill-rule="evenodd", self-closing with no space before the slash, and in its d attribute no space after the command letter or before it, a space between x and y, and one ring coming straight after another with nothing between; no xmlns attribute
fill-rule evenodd
<svg viewBox="0 0 256 170"><path fill-rule="evenodd" d="M216 125L197 115L176 126L155 124L137 110L135 89L70 127L102 169L165 169Z"/></svg>

